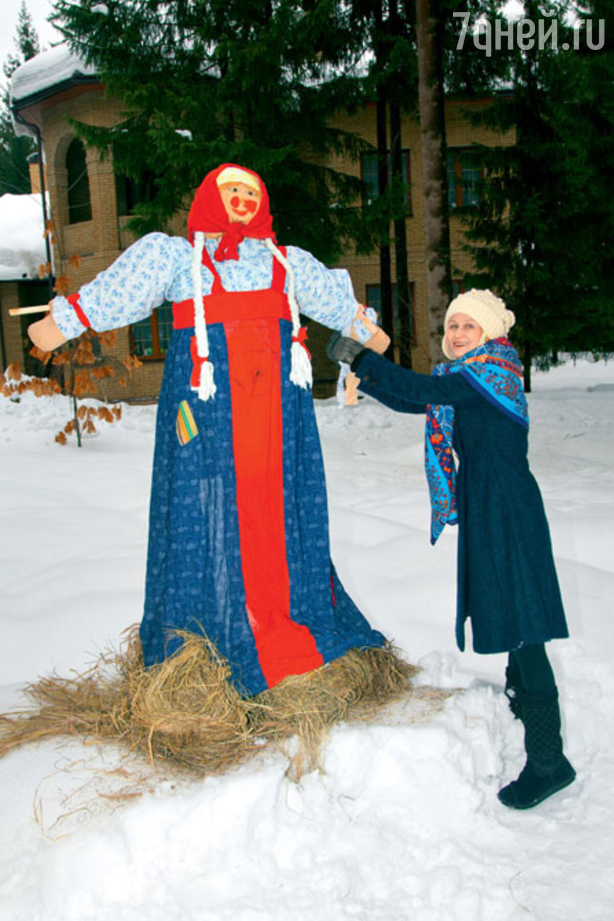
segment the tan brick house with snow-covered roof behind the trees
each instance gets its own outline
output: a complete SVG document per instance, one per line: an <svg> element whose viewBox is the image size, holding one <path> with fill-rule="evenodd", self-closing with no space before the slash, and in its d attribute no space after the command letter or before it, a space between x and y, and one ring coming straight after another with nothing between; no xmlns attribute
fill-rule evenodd
<svg viewBox="0 0 614 921"><path fill-rule="evenodd" d="M76 290L108 266L132 241L125 224L133 190L115 176L110 159L101 160L97 150L83 146L76 138L71 120L112 125L120 121L121 104L109 99L95 73L62 46L22 64L13 76L11 88L17 132L38 137L44 145L46 181L56 239L55 274L69 274L70 289ZM452 264L453 273L458 277L470 268L469 257L460 246L458 214L464 204L471 204L475 194L474 182L480 175L480 165L471 145L474 142L499 145L514 141L512 134L502 136L471 127L465 112L488 104L488 99L446 100ZM375 107L367 105L353 116L337 114L335 122L349 131L361 134L375 146ZM420 125L410 116L404 118L402 138L410 204L407 239L412 298L412 360L413 367L426 371L427 314ZM375 163L375 155L372 153L364 154L360 163L331 161L336 169L362 174L374 193L377 193ZM172 233L185 233L186 217L186 213L175 217L170 228ZM74 265L67 268L74 256L80 257L78 268ZM394 254L392 259L394 283ZM352 275L356 297L377 308L377 252L369 256L347 252L338 264L347 268ZM156 396L169 331L168 307L157 309L151 321L142 321L120 331L116 346L118 353L136 354L142 359L143 367L133 374L129 391L112 392L111 388L111 397L146 399ZM323 352L327 334L328 331L318 329L317 324L310 324L314 376L319 385L314 389L316 395L330 394L336 373L335 367Z"/></svg>

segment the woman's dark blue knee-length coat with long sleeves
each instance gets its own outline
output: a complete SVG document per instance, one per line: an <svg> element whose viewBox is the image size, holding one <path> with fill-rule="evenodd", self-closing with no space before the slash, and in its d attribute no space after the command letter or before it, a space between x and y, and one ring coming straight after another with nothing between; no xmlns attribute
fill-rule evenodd
<svg viewBox="0 0 614 921"><path fill-rule="evenodd" d="M360 389L400 413L455 408L458 455L457 642L470 618L476 652L505 652L568 636L527 430L459 374L430 377L361 353Z"/></svg>

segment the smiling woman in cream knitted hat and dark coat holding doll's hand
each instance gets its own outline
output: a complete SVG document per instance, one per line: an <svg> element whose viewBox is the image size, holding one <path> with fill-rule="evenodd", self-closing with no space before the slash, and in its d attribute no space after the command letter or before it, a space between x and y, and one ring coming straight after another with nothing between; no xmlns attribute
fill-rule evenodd
<svg viewBox="0 0 614 921"><path fill-rule="evenodd" d="M476 652L508 653L506 693L525 726L527 764L499 799L528 809L571 784L575 772L562 753L558 691L544 647L568 631L548 522L528 468L522 368L506 338L514 322L491 291L456 297L443 340L450 363L435 367L434 377L339 335L328 351L352 366L365 393L399 412L426 414L431 542L458 523L458 647L465 647L469 618Z"/></svg>

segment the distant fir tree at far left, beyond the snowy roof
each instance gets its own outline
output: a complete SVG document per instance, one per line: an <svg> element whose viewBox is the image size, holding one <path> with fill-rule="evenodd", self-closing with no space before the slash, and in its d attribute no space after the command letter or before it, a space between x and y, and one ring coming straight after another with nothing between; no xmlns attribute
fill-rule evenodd
<svg viewBox="0 0 614 921"><path fill-rule="evenodd" d="M40 51L39 38L25 0L17 16L15 46L17 54L9 55L3 66L7 81L19 64L29 61ZM0 195L30 191L28 157L34 149L34 143L28 137L17 137L13 131L6 88L0 110Z"/></svg>

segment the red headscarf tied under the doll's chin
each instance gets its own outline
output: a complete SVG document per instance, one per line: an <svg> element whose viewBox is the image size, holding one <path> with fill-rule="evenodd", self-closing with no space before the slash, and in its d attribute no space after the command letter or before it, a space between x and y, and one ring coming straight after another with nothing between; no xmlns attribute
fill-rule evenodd
<svg viewBox="0 0 614 921"><path fill-rule="evenodd" d="M226 215L226 208L222 203L216 180L222 170L227 168L243 169L260 183L261 206L249 224L230 221ZM202 230L203 233L223 234L214 252L214 258L218 262L225 259L238 259L238 244L244 237L256 239L270 237L275 242L275 235L272 232L272 216L269 211L269 194L258 173L245 167L239 167L236 163L222 163L217 169L212 169L210 173L207 173L194 195L188 216L188 239L191 243L194 242L194 233L197 230Z"/></svg>

